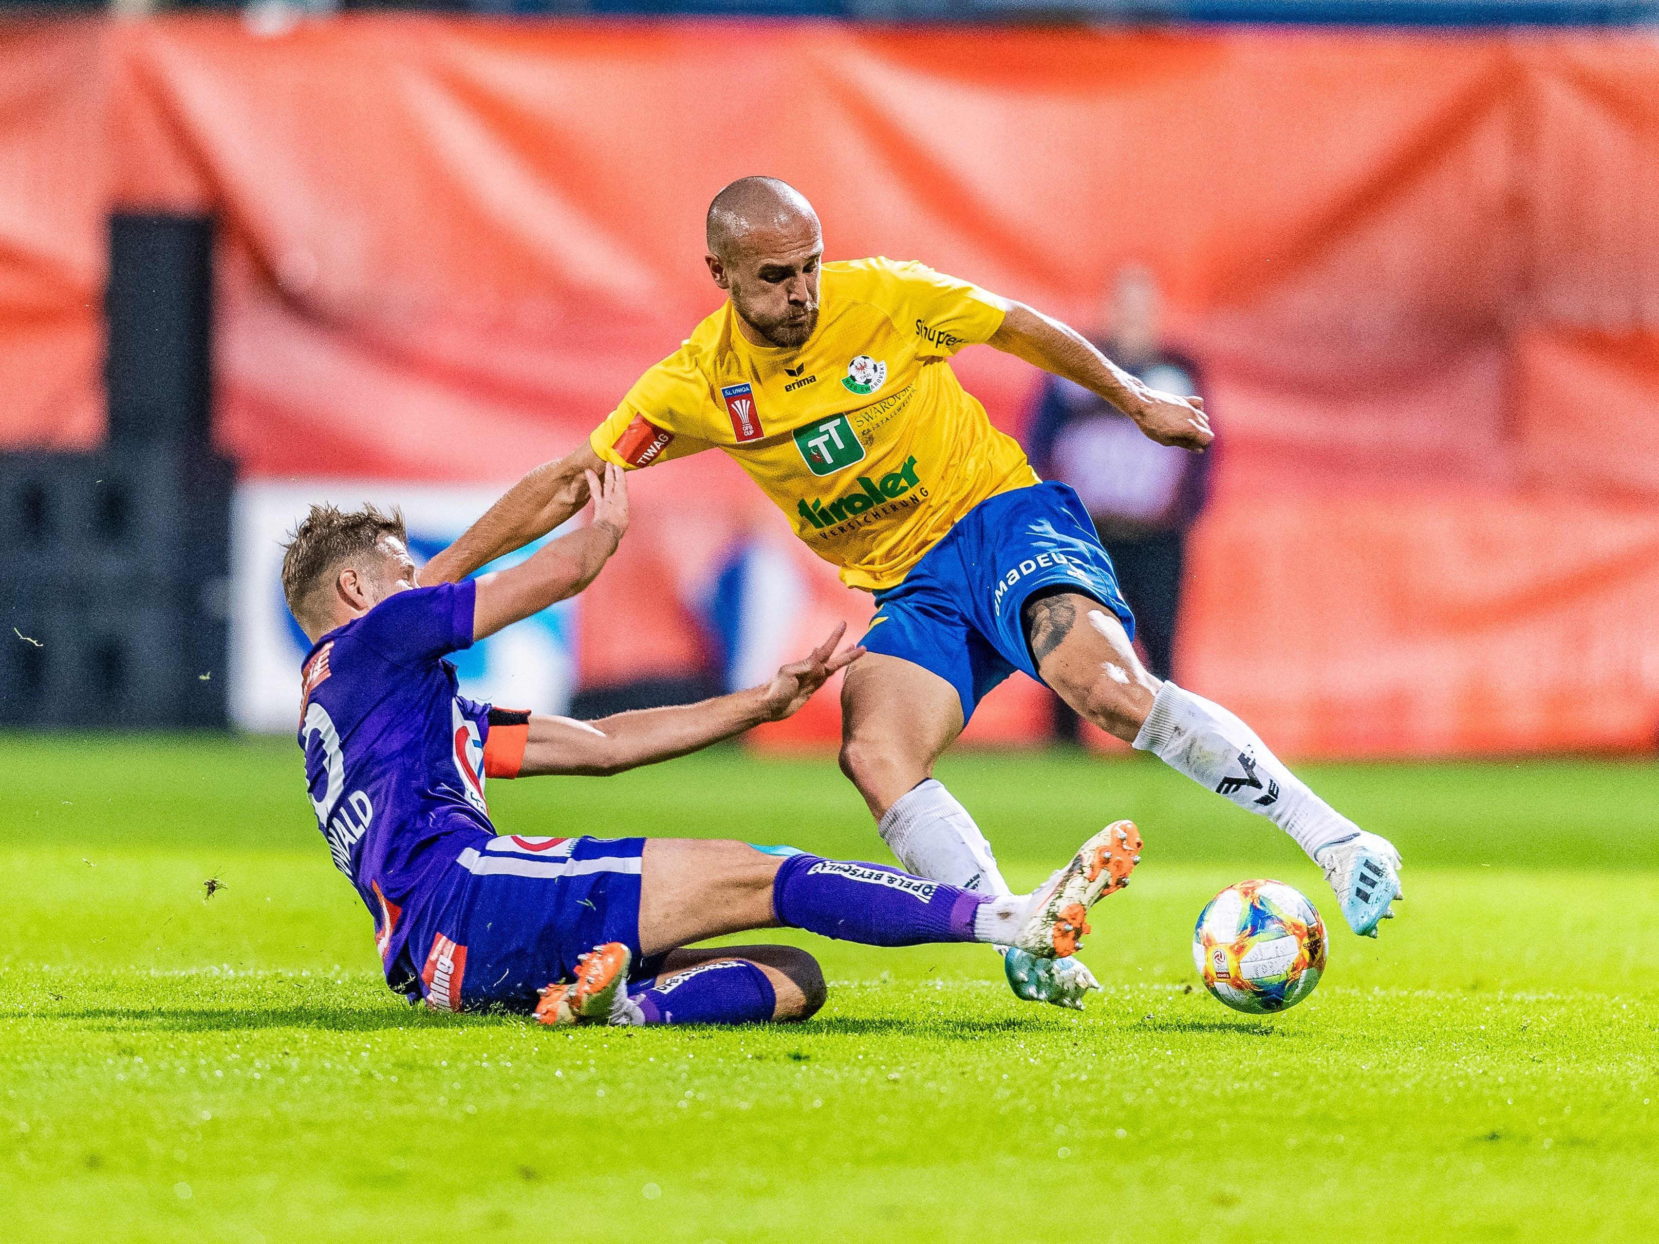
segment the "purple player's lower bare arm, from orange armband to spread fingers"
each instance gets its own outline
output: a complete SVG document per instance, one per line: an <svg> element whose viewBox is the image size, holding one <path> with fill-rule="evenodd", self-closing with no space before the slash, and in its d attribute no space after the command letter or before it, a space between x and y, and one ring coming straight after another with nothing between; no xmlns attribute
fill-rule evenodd
<svg viewBox="0 0 1659 1244"><path fill-rule="evenodd" d="M843 622L805 660L790 662L765 687L702 703L617 713L597 722L531 717L516 776L607 776L698 751L761 722L781 722L805 705L831 673L864 655L859 647L834 650L844 630Z"/></svg>

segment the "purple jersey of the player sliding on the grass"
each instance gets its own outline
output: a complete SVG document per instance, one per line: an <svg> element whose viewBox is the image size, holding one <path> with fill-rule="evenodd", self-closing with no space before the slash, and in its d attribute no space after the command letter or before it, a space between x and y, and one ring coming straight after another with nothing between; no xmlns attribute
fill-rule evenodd
<svg viewBox="0 0 1659 1244"><path fill-rule="evenodd" d="M302 667L300 748L335 866L375 917L393 989L411 902L468 846L494 836L484 806L489 708L460 695L445 654L473 644L471 581L388 595L324 635Z"/></svg>

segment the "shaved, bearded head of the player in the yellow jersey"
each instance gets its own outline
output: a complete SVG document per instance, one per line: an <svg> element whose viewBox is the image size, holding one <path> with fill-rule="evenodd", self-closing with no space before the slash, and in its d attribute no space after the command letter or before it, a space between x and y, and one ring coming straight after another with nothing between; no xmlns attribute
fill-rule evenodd
<svg viewBox="0 0 1659 1244"><path fill-rule="evenodd" d="M823 231L806 196L776 177L740 177L708 204L708 274L753 345L796 350L818 327Z"/></svg>

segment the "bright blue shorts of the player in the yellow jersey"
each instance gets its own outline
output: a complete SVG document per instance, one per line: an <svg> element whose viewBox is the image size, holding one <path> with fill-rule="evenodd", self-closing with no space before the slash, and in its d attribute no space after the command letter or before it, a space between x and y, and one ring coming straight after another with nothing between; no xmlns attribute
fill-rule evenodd
<svg viewBox="0 0 1659 1244"><path fill-rule="evenodd" d="M904 582L876 592L859 640L956 687L962 722L1014 670L1039 678L1020 610L1044 587L1093 597L1135 635L1112 559L1068 486L1034 484L987 498L916 562Z"/></svg>

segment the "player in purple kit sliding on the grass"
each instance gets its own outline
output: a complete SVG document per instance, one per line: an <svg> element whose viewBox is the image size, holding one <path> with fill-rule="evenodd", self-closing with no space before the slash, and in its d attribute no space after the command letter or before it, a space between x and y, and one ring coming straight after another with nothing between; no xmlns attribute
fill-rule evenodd
<svg viewBox="0 0 1659 1244"><path fill-rule="evenodd" d="M473 703L445 655L581 592L627 531L619 466L587 476L592 522L476 581L418 586L397 513L314 506L282 561L312 640L300 748L333 861L375 917L387 984L440 1010L544 1023L806 1018L811 955L688 950L798 927L871 945L992 942L1070 955L1085 916L1128 884L1140 834L1107 826L1030 894L987 896L881 864L687 838L498 838L488 776L619 773L795 713L836 670L843 627L765 687L572 722Z"/></svg>

